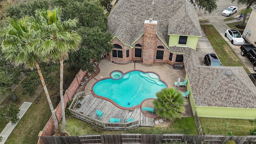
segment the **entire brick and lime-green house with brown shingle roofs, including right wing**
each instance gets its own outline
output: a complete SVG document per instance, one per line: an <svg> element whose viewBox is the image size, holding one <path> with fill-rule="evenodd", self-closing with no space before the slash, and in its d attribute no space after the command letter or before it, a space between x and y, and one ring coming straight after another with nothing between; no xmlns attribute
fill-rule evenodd
<svg viewBox="0 0 256 144"><path fill-rule="evenodd" d="M256 118L256 87L242 67L200 66L195 50L202 32L188 0L119 0L108 28L114 36L112 53L106 54L111 62L184 64L193 114ZM247 38L256 38L251 30Z"/></svg>

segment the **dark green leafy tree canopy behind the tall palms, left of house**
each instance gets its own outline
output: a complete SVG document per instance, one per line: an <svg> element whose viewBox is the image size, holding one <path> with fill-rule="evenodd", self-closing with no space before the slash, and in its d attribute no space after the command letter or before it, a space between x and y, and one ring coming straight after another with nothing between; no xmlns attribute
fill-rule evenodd
<svg viewBox="0 0 256 144"><path fill-rule="evenodd" d="M112 36L107 32L107 17L104 8L96 1L86 0L33 0L21 2L18 6L7 9L7 16L22 18L25 15L34 16L36 9L48 9L50 6L62 7L63 20L78 18L75 29L82 36L80 50L69 54L69 62L82 70L93 70L91 61L99 61L104 51L110 52L109 43ZM89 37L90 36L90 37ZM81 61L82 60L82 61Z"/></svg>

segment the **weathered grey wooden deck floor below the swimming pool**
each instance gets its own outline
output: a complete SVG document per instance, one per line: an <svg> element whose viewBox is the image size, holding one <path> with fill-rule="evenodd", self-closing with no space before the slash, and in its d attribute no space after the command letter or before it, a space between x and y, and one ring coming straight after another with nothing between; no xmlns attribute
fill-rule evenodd
<svg viewBox="0 0 256 144"><path fill-rule="evenodd" d="M78 108L74 106L72 110L81 113L84 116L88 116L102 122L109 122L110 118L120 118L121 123L126 123L127 119L133 118L134 121L139 120L140 126L154 126L154 118L148 118L144 116L140 112L140 108L135 108L133 110L123 110L116 107L114 104L107 100L94 97L92 94L88 94L86 96L84 94L79 94L76 96L82 96L84 98L83 100L77 100L76 102L76 104L80 103L81 107ZM98 116L95 116L96 110L101 110L104 116L98 119Z"/></svg>

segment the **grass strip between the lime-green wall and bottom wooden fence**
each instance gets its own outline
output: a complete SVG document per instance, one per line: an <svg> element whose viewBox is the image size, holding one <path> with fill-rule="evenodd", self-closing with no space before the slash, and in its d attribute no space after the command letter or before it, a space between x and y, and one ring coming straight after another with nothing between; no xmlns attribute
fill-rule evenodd
<svg viewBox="0 0 256 144"><path fill-rule="evenodd" d="M242 119L225 119L225 118L199 118L202 131L204 134L223 134L228 132L224 126L228 123L228 128L233 132L234 136L250 135L250 129L256 126L256 120L242 120Z"/></svg>

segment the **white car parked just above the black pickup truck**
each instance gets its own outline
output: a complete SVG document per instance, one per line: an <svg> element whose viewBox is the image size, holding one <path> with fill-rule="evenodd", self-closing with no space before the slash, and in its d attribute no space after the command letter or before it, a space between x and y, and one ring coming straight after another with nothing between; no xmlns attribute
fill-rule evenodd
<svg viewBox="0 0 256 144"><path fill-rule="evenodd" d="M227 37L232 44L244 44L244 38L242 38L242 34L238 30L227 29L225 32L225 37Z"/></svg>

